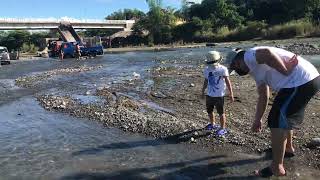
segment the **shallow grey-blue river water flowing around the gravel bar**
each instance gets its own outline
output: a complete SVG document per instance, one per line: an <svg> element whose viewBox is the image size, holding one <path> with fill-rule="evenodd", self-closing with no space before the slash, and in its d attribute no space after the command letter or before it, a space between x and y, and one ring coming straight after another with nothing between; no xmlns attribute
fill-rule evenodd
<svg viewBox="0 0 320 180"><path fill-rule="evenodd" d="M44 60L2 67L1 179L249 178L253 169L267 163L257 155L212 153L194 144L174 144L125 133L88 119L45 111L35 101L35 95L51 93L69 94L83 103L97 102L99 98L84 95L85 92L93 94L97 87L130 80L134 74L145 79L147 89L152 85L148 79L148 69L154 65L152 60L180 58L196 65L208 50L124 53L82 62ZM14 79L20 76L76 65L102 65L102 68L57 76L36 89L19 88L14 84ZM163 110L156 104L146 104Z"/></svg>

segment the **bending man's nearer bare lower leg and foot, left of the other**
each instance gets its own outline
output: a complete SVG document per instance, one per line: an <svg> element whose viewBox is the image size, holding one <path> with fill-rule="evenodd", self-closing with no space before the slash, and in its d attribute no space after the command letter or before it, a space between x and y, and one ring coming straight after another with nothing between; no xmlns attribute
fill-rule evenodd
<svg viewBox="0 0 320 180"><path fill-rule="evenodd" d="M287 143L288 130L271 128L272 164L274 175L284 176L286 171L283 166L283 158Z"/></svg>

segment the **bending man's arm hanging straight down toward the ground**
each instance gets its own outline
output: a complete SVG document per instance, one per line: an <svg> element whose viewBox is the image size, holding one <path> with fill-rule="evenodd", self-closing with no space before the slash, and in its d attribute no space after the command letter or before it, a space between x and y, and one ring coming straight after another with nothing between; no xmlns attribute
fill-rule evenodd
<svg viewBox="0 0 320 180"><path fill-rule="evenodd" d="M268 101L269 101L269 86L266 84L261 84L258 86L258 103L256 109L255 120L252 125L252 131L260 132L262 126L262 117L264 112L267 109Z"/></svg>

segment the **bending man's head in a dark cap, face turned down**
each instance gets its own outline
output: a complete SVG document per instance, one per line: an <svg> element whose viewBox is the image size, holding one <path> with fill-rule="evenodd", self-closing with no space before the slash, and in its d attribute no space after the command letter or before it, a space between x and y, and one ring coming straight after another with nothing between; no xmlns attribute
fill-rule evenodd
<svg viewBox="0 0 320 180"><path fill-rule="evenodd" d="M227 61L229 61L229 71L236 71L240 76L247 75L250 71L246 63L244 62L244 53L242 49L233 50L227 56Z"/></svg>

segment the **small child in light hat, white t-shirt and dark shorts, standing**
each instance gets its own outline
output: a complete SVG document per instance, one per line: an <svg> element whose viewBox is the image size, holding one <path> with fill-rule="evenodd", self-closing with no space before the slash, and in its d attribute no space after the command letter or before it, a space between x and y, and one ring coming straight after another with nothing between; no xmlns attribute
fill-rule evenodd
<svg viewBox="0 0 320 180"><path fill-rule="evenodd" d="M202 97L205 97L207 89L206 107L210 123L206 126L207 130L215 130L217 136L224 136L226 130L226 116L224 112L224 95L226 88L229 90L230 99L233 102L233 92L229 79L228 69L221 65L222 56L218 51L210 51L207 54L207 67L204 69L204 83ZM220 118L220 125L215 123L214 108L217 109Z"/></svg>

